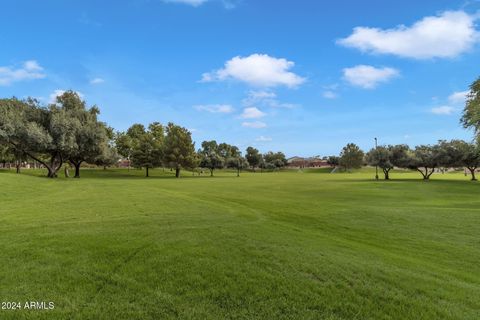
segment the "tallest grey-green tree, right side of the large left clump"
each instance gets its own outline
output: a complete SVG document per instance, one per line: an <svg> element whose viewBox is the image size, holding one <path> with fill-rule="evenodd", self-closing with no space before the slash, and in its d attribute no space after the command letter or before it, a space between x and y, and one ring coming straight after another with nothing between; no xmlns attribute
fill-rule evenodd
<svg viewBox="0 0 480 320"><path fill-rule="evenodd" d="M73 146L67 154L68 161L75 168L75 178L80 178L83 162L96 163L108 158L111 129L98 121L99 109L87 108L85 101L74 91L67 91L56 98L56 106L69 117L73 134Z"/></svg>

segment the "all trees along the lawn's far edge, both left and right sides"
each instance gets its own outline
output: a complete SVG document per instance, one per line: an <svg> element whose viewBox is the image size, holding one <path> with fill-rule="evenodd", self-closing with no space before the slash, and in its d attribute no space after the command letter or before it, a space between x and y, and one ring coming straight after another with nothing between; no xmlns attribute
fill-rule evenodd
<svg viewBox="0 0 480 320"><path fill-rule="evenodd" d="M87 106L74 91L56 97L54 103L42 105L27 98L0 99L0 162L15 163L17 172L27 159L47 169L55 178L69 164L80 177L83 163L112 166L124 158L135 168L144 168L145 175L157 167L175 170L205 168L214 175L216 169L230 168L240 174L242 169L279 169L287 165L282 152L267 152L248 147L245 155L238 147L215 140L204 141L195 150L191 133L174 123L166 126L153 122L148 127L134 124L124 132L98 119L97 106ZM364 153L357 145L345 146L339 156L328 157L328 163L345 170L362 165L377 166L384 178L394 167L418 171L428 180L436 169L467 168L472 180L480 166L480 78L470 86L461 124L473 129L473 142L440 140L435 145L379 146ZM66 170L66 175L67 170Z"/></svg>

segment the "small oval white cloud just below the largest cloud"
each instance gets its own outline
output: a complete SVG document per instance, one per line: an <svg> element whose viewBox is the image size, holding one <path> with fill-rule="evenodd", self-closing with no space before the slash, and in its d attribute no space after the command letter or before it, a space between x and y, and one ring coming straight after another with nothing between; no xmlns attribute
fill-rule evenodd
<svg viewBox="0 0 480 320"><path fill-rule="evenodd" d="M358 65L343 69L343 78L351 85L364 89L374 89L378 84L387 82L399 75L393 68L375 68L367 65Z"/></svg>

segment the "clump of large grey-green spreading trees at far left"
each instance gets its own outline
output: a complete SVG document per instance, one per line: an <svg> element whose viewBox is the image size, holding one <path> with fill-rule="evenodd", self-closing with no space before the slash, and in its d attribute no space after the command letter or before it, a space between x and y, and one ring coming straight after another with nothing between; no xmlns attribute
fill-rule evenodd
<svg viewBox="0 0 480 320"><path fill-rule="evenodd" d="M2 153L17 164L33 159L51 178L66 162L75 167L77 177L83 162L109 165L116 154L113 130L98 120L98 114L96 106L88 108L72 91L47 107L31 98L0 99Z"/></svg>

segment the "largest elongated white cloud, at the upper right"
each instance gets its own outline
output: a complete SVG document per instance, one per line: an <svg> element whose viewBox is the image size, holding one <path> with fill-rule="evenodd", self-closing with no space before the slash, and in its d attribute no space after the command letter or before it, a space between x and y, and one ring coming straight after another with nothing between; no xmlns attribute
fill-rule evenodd
<svg viewBox="0 0 480 320"><path fill-rule="evenodd" d="M451 58L468 51L480 39L478 17L464 11L446 11L407 27L392 29L356 27L337 43L363 52L393 54L414 59Z"/></svg>

